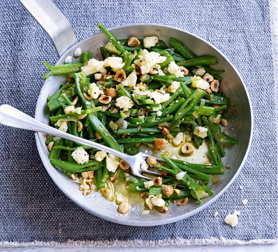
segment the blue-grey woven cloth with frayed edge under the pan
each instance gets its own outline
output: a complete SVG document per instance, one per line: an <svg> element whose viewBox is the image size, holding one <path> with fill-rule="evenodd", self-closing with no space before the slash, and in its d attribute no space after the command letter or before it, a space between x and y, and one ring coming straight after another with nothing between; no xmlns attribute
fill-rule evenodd
<svg viewBox="0 0 278 252"><path fill-rule="evenodd" d="M88 214L46 173L34 133L0 125L0 246L154 246L274 243L277 239L277 142L267 0L54 0L81 40L130 23L185 29L216 46L235 65L254 114L251 150L230 188L200 213L158 227L127 227ZM47 35L16 0L0 1L0 104L30 116L46 71L58 56ZM242 185L242 189L239 186ZM241 200L247 199L243 206ZM224 224L239 211L235 228ZM219 212L213 217L214 212Z"/></svg>

